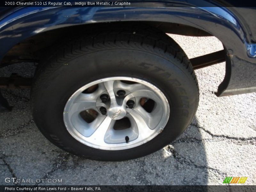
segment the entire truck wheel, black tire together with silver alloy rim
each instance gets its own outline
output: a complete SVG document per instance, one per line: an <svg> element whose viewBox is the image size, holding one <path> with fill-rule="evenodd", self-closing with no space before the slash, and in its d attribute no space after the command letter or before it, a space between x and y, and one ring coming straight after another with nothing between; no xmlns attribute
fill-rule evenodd
<svg viewBox="0 0 256 192"><path fill-rule="evenodd" d="M175 140L195 116L193 68L156 29L106 29L52 50L31 97L37 127L59 148L94 160L138 158Z"/></svg>

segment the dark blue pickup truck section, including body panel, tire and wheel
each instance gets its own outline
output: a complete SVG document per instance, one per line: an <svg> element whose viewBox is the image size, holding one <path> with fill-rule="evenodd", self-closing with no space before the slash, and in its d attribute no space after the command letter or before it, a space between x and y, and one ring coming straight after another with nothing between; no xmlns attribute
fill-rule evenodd
<svg viewBox="0 0 256 192"><path fill-rule="evenodd" d="M256 92L255 7L129 2L0 9L0 67L38 64L33 79L0 77L1 86L31 88L37 127L75 155L121 161L175 140L198 106L195 69L226 61L216 95ZM224 49L189 60L166 33L215 36ZM11 109L1 94L0 104Z"/></svg>

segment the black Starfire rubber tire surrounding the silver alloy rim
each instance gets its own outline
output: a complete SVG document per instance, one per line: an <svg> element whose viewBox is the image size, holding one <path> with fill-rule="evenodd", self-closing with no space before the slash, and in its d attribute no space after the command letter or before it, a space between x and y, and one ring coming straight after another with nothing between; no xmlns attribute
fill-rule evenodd
<svg viewBox="0 0 256 192"><path fill-rule="evenodd" d="M52 47L35 75L31 97L39 130L54 145L77 156L122 161L153 153L175 140L191 123L198 106L193 68L178 44L161 31L142 27L101 30ZM164 130L154 139L125 150L88 147L67 131L63 110L84 84L110 76L130 76L158 87L171 105Z"/></svg>

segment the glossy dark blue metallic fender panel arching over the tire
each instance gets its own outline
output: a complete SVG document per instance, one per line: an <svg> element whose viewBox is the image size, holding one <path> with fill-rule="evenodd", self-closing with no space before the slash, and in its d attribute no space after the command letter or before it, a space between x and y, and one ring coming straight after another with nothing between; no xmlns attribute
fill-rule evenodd
<svg viewBox="0 0 256 192"><path fill-rule="evenodd" d="M115 21L179 23L204 30L223 43L227 51L227 70L218 96L256 92L256 44L252 43L249 25L241 15L228 8L210 7L212 4L208 2L205 5L207 7L196 4L193 7L164 7L163 4L163 7L16 8L0 20L0 44L4 45L0 49L0 60L15 44L56 28ZM256 16L255 9L250 11Z"/></svg>

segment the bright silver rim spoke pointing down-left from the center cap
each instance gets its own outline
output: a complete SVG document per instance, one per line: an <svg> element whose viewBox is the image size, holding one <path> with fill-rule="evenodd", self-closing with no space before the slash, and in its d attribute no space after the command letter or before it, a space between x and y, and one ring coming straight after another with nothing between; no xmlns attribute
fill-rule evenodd
<svg viewBox="0 0 256 192"><path fill-rule="evenodd" d="M108 128L114 125L114 120L106 116L106 118L99 124L97 129L92 133L92 135L86 138L86 141L97 143L97 145L105 145L104 137Z"/></svg>

